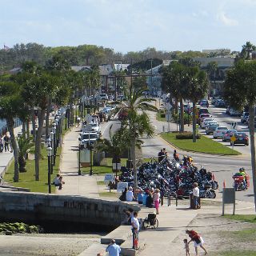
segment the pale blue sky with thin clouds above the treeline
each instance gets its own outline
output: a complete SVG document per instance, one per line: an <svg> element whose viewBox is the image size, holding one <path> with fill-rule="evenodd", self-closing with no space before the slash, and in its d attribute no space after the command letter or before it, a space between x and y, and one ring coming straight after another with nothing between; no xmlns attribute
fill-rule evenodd
<svg viewBox="0 0 256 256"><path fill-rule="evenodd" d="M256 0L0 0L0 48L94 44L126 53L256 44Z"/></svg>

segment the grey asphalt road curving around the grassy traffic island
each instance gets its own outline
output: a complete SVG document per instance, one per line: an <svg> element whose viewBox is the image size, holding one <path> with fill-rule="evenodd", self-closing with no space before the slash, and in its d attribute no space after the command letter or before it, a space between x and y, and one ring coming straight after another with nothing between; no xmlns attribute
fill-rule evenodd
<svg viewBox="0 0 256 256"><path fill-rule="evenodd" d="M228 115L224 114L225 109L210 108L211 114L214 119L220 122L222 125L229 125L231 122L238 122L239 118L230 118ZM154 138L143 138L144 144L142 145L142 153L144 158L157 157L158 152L165 147L170 157L174 152L174 147L169 143L164 141L158 134L162 132L163 126L167 130L167 122L158 122L155 119L155 113L149 112L150 121L155 128ZM112 126L112 130L117 130L120 127L120 122L118 120L113 120L105 127L102 131L104 138L109 138L109 129ZM170 124L170 130L176 130L176 124ZM238 123L238 130L244 129L244 126ZM212 137L212 136L211 136ZM235 150L239 150L242 155L239 156L216 156L210 154L199 154L199 153L188 153L186 151L178 150L180 156L183 154L189 154L193 159L194 163L198 168L204 166L206 170L212 171L215 174L216 180L219 183L219 192L222 191L222 184L225 181L226 187L233 186L232 174L237 172L239 167L244 167L248 174L251 175L250 168L250 146L235 146ZM252 184L252 178L250 178L250 184ZM220 194L219 194L220 195ZM253 188L246 191L239 191L236 194L238 200L244 200L249 202L254 202Z"/></svg>

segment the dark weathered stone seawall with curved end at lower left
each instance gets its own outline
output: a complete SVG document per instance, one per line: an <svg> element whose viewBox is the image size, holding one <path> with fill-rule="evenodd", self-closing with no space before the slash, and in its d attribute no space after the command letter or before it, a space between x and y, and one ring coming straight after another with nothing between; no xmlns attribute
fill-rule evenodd
<svg viewBox="0 0 256 256"><path fill-rule="evenodd" d="M0 218L22 222L79 222L93 225L119 226L124 218L125 202L98 198L39 194L26 192L0 192Z"/></svg>

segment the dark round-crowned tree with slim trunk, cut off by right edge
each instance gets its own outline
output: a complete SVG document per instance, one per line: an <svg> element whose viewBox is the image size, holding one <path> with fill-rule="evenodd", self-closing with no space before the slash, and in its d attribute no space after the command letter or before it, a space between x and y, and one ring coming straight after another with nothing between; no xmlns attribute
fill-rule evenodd
<svg viewBox="0 0 256 256"><path fill-rule="evenodd" d="M256 163L254 142L254 106L256 105L256 61L240 60L227 72L224 98L231 107L242 110L249 106L250 154L256 210Z"/></svg>

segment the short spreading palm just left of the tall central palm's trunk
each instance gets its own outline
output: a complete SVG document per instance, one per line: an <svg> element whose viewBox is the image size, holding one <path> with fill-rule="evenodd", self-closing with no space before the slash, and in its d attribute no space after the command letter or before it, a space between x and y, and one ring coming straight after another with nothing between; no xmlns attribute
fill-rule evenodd
<svg viewBox="0 0 256 256"><path fill-rule="evenodd" d="M121 155L124 150L128 148L126 143L126 134L124 130L119 129L112 134L112 126L110 126L110 139L99 139L95 145L95 149L98 151L105 151L112 156L112 163L116 163L116 176L118 176L118 163L121 162Z"/></svg>

